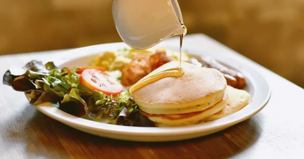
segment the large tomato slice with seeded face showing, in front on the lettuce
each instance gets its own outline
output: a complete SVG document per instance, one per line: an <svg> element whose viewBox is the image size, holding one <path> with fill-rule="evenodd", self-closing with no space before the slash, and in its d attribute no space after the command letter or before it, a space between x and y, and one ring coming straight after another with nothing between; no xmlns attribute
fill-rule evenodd
<svg viewBox="0 0 304 159"><path fill-rule="evenodd" d="M83 70L79 82L94 91L102 92L106 95L112 94L113 97L123 91L123 85L116 78L97 69Z"/></svg>

